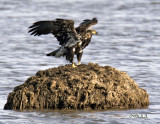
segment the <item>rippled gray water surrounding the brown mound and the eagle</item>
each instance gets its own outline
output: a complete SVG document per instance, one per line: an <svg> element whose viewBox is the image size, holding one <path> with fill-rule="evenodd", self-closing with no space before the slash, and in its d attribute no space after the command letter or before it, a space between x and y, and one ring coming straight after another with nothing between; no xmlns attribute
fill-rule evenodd
<svg viewBox="0 0 160 124"><path fill-rule="evenodd" d="M38 70L68 64L45 56L58 47L52 35L33 37L35 21L97 17L99 33L84 50L82 63L125 71L146 89L144 109L109 111L3 110L14 87ZM145 118L137 118L136 116ZM0 0L0 124L155 124L160 123L160 0Z"/></svg>

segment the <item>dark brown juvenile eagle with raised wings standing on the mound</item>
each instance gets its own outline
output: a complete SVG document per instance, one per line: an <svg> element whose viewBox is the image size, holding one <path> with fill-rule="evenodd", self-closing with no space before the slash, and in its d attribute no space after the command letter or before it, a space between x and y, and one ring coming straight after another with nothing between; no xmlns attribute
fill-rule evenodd
<svg viewBox="0 0 160 124"><path fill-rule="evenodd" d="M92 35L97 34L94 29L88 28L97 23L96 18L86 19L77 28L74 28L72 20L38 21L29 27L29 32L34 36L53 34L61 47L48 53L47 56L65 56L66 60L72 63L72 67L76 67L73 62L74 55L77 55L78 64L80 65L83 49L90 43Z"/></svg>

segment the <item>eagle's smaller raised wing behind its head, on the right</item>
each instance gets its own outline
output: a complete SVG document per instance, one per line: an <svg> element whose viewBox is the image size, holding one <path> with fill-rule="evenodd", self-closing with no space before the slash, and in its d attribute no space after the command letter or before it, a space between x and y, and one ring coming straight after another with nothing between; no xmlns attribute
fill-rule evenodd
<svg viewBox="0 0 160 124"><path fill-rule="evenodd" d="M86 19L76 28L78 33L84 33L89 27L98 23L97 18L93 18L92 20Z"/></svg>

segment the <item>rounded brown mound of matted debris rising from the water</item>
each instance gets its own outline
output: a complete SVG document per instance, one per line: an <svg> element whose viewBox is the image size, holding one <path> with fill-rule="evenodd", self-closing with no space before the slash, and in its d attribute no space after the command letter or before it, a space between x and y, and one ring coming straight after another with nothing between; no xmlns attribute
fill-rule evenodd
<svg viewBox="0 0 160 124"><path fill-rule="evenodd" d="M125 72L89 63L38 71L14 88L4 109L112 109L149 105L146 90Z"/></svg>

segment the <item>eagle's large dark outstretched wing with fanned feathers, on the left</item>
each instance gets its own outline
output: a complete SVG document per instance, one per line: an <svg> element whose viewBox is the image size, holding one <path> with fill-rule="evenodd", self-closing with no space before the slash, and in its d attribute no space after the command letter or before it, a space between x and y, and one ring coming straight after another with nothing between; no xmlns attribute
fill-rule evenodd
<svg viewBox="0 0 160 124"><path fill-rule="evenodd" d="M72 20L56 19L53 21L38 21L29 28L29 32L34 36L52 33L60 42L60 45L66 44L72 47L79 40Z"/></svg>

